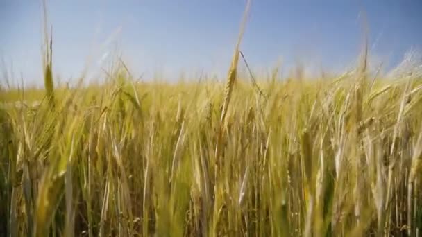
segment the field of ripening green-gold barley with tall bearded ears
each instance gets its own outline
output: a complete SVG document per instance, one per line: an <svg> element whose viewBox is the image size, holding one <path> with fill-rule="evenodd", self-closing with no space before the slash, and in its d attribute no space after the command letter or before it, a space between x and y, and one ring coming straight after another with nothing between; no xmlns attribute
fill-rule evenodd
<svg viewBox="0 0 422 237"><path fill-rule="evenodd" d="M49 39L49 37L47 37ZM422 236L422 76L0 88L1 236Z"/></svg>

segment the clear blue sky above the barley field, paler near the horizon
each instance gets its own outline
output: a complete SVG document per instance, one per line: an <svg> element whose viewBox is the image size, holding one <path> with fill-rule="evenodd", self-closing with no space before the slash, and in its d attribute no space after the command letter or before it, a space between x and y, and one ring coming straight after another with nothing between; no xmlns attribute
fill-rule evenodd
<svg viewBox="0 0 422 237"><path fill-rule="evenodd" d="M96 70L118 49L138 75L226 73L244 0L47 1L53 69L62 78ZM389 67L422 45L421 0L253 0L242 51L254 68L298 60L342 69L362 48L362 13L373 58ZM42 3L0 0L0 57L26 84L39 82ZM91 58L92 60L88 60ZM20 80L20 79L19 79ZM65 79L66 80L66 79Z"/></svg>

